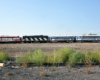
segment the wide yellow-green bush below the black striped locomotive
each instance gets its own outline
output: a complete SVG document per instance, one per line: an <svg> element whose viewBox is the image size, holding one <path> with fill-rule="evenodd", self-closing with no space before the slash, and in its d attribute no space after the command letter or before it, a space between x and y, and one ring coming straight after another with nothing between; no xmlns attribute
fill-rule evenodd
<svg viewBox="0 0 100 80"><path fill-rule="evenodd" d="M28 52L20 58L16 59L19 63L36 63L36 65L42 66L46 61L46 55L41 50L35 50L34 52Z"/></svg>

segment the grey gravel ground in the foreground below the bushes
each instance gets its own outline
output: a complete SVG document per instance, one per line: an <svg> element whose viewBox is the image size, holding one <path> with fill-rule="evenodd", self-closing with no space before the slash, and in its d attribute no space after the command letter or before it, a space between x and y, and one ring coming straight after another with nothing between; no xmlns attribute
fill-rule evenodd
<svg viewBox="0 0 100 80"><path fill-rule="evenodd" d="M53 69L53 71L51 71ZM0 80L100 80L100 67L28 67L5 66L0 68ZM46 76L40 73L45 72ZM11 73L11 75L7 75Z"/></svg>

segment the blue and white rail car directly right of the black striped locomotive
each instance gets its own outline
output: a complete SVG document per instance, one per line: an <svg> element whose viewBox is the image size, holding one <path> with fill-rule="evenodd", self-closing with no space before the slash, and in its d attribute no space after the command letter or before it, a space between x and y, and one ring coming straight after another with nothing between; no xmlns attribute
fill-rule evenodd
<svg viewBox="0 0 100 80"><path fill-rule="evenodd" d="M51 36L50 42L74 42L75 36Z"/></svg>

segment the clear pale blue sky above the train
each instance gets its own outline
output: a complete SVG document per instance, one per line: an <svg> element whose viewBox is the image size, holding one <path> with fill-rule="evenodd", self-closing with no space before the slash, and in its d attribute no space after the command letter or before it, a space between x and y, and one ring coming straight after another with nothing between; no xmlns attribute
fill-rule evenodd
<svg viewBox="0 0 100 80"><path fill-rule="evenodd" d="M100 35L100 0L0 0L0 35Z"/></svg>

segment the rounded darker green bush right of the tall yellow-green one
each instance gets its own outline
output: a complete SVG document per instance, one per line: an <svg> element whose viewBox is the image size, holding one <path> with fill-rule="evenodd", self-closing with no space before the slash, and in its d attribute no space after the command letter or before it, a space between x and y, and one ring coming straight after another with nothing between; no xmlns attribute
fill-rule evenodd
<svg viewBox="0 0 100 80"><path fill-rule="evenodd" d="M76 63L84 63L85 55L81 52L74 52L69 55L69 65L75 66Z"/></svg>

